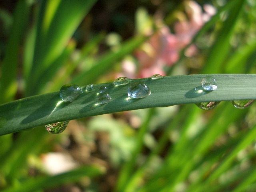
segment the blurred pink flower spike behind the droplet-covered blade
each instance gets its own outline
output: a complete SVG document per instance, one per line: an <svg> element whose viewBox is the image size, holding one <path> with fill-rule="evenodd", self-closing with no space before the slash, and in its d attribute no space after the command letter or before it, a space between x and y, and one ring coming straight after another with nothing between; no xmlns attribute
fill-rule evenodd
<svg viewBox="0 0 256 192"><path fill-rule="evenodd" d="M181 19L174 24L174 34L167 26L163 25L148 42L136 50L135 56L140 64L139 78L149 77L153 74L166 75L163 67L172 66L179 60L180 50L191 42L204 23L216 13L214 6L210 4L204 5L205 12L203 12L201 6L193 0L184 2L184 6L187 19ZM192 45L185 54L189 57L196 52L196 46Z"/></svg>

